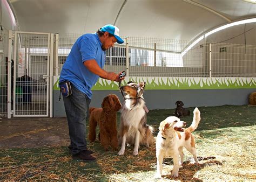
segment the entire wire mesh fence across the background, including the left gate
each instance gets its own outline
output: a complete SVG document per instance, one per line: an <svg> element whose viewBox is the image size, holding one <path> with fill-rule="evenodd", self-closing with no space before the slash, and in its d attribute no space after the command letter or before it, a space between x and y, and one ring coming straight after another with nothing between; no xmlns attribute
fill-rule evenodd
<svg viewBox="0 0 256 182"><path fill-rule="evenodd" d="M47 116L51 106L48 104L49 85L52 85L48 79L49 69L54 68L54 75L60 74L73 44L82 34L56 34L52 43L52 34L50 38L48 33L16 33L15 39L8 39L7 31L0 37L0 117L5 117L11 108L15 116ZM123 39L124 44L116 44L106 51L106 71L126 71L127 76L144 77L256 77L256 45ZM8 54L8 50L12 51ZM49 58L53 64L49 64ZM31 80L26 80L26 76ZM24 82L29 82L28 87ZM8 90L11 90L11 97L8 97Z"/></svg>

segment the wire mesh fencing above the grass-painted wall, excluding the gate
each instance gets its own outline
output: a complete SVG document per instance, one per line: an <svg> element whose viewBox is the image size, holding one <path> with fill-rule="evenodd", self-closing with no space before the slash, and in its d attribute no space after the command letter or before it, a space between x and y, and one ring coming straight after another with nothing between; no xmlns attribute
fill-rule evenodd
<svg viewBox="0 0 256 182"><path fill-rule="evenodd" d="M81 35L59 36L58 73L73 43ZM210 44L204 40L193 46L185 40L136 37L124 40L124 44L115 44L106 51L106 71L126 70L129 76L256 76L256 46L253 45L211 44L210 58Z"/></svg>

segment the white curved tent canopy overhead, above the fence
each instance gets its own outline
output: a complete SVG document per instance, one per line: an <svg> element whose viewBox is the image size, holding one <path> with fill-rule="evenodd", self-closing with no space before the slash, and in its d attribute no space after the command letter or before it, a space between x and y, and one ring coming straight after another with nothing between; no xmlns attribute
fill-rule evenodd
<svg viewBox="0 0 256 182"><path fill-rule="evenodd" d="M256 17L244 0L9 0L21 31L93 33L115 24L120 35L193 40L214 27Z"/></svg>

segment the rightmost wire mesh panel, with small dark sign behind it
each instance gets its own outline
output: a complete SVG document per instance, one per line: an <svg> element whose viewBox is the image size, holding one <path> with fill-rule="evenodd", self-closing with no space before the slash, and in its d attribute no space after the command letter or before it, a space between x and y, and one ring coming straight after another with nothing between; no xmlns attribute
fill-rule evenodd
<svg viewBox="0 0 256 182"><path fill-rule="evenodd" d="M212 44L213 77L256 77L256 46Z"/></svg>

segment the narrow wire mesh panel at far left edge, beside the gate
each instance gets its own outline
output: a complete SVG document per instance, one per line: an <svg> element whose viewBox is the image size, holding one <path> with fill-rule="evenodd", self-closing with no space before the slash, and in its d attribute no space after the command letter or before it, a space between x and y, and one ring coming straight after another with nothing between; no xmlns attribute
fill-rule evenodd
<svg viewBox="0 0 256 182"><path fill-rule="evenodd" d="M8 36L1 31L0 35L0 117L7 115L8 86Z"/></svg>

